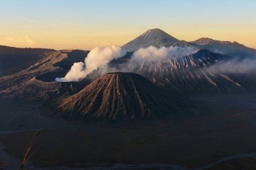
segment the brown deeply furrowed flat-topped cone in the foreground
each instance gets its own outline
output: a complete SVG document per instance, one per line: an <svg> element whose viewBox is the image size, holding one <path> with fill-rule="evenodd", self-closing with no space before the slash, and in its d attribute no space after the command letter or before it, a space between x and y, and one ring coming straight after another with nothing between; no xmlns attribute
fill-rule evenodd
<svg viewBox="0 0 256 170"><path fill-rule="evenodd" d="M132 120L178 112L182 102L135 73L107 73L58 102L67 119Z"/></svg>

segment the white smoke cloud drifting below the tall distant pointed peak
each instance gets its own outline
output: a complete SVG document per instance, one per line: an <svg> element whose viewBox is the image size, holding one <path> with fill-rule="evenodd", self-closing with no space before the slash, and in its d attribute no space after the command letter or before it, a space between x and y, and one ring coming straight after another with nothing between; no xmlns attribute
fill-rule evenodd
<svg viewBox="0 0 256 170"><path fill-rule="evenodd" d="M140 48L135 51L131 56L130 62L142 62L142 61L153 61L153 60L161 60L166 58L179 58L181 56L190 55L197 52L195 48L181 48L177 46L156 48L154 46L150 46L148 48Z"/></svg>

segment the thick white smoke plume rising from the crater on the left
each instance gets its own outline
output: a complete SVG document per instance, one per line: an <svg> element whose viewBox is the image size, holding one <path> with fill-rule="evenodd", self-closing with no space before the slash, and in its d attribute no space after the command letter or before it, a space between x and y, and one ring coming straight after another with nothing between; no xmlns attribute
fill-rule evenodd
<svg viewBox="0 0 256 170"><path fill-rule="evenodd" d="M108 62L115 58L124 56L126 52L119 46L92 49L83 62L75 62L67 75L63 78L56 78L55 81L79 81L97 69L105 67Z"/></svg>

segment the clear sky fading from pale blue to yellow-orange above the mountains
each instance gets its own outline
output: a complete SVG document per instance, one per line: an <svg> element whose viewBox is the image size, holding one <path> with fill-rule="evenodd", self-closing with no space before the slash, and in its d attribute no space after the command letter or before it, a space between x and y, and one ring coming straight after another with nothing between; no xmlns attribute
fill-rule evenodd
<svg viewBox="0 0 256 170"><path fill-rule="evenodd" d="M256 48L256 0L0 0L0 44L90 50L160 28Z"/></svg>

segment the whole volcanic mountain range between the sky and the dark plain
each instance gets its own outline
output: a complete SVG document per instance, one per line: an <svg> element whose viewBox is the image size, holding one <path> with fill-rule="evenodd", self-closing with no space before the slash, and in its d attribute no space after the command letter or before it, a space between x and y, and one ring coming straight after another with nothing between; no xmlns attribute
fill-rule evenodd
<svg viewBox="0 0 256 170"><path fill-rule="evenodd" d="M133 52L148 46L189 47L195 53L134 63ZM179 112L193 95L255 91L255 74L211 69L234 58L255 56L255 49L237 42L210 38L186 42L152 29L121 48L127 54L107 66L114 73L57 82L55 77L65 76L74 62L84 62L90 51L1 46L0 95L32 101L54 99L58 115L69 119L132 120Z"/></svg>

